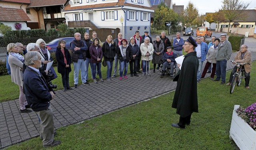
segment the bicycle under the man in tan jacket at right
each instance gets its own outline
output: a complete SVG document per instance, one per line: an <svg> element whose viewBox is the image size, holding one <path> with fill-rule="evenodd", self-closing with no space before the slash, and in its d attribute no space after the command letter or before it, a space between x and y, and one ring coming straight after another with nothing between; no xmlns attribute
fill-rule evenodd
<svg viewBox="0 0 256 150"><path fill-rule="evenodd" d="M237 70L234 73L232 82L230 84L230 94L233 93L236 84L237 84L237 86L240 86L242 78L245 78L243 66L244 66L244 64L248 64L246 62L245 63L237 63L235 61L231 61L231 62L234 62L235 64L237 64Z"/></svg>

